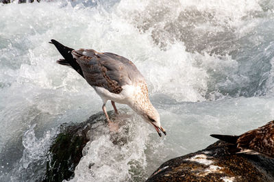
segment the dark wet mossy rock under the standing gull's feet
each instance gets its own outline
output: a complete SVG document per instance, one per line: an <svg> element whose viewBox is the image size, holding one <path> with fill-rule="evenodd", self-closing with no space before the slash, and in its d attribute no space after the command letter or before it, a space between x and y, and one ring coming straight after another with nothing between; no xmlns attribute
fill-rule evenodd
<svg viewBox="0 0 274 182"><path fill-rule="evenodd" d="M109 116L112 114L113 112L108 112ZM61 126L61 132L49 150L47 172L42 181L63 181L74 176L75 167L83 156L82 150L90 140L88 131L103 117L103 113L100 112L90 116L85 122Z"/></svg>

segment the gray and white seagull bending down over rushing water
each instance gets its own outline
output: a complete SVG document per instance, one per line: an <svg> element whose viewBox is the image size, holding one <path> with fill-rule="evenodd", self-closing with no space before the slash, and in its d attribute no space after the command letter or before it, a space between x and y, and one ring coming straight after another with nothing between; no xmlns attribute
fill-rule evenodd
<svg viewBox="0 0 274 182"><path fill-rule="evenodd" d="M166 131L160 124L160 115L149 100L147 83L136 66L127 58L114 53L99 53L93 49L71 49L56 40L54 44L64 59L58 64L71 66L95 89L103 101L103 113L109 126L113 125L106 112L105 103L111 101L116 114L115 103L127 104L146 122L152 125L161 137Z"/></svg>

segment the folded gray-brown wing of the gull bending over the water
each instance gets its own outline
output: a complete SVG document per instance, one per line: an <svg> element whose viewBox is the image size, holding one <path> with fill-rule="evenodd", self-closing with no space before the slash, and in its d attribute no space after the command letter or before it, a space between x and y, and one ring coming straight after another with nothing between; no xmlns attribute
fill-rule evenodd
<svg viewBox="0 0 274 182"><path fill-rule="evenodd" d="M119 94L124 85L143 79L136 66L125 57L114 53L99 53L92 49L72 51L90 86L103 87Z"/></svg>

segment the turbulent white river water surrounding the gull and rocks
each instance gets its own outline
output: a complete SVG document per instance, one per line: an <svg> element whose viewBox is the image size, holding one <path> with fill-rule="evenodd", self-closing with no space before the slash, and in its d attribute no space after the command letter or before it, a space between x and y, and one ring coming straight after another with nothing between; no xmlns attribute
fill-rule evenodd
<svg viewBox="0 0 274 182"><path fill-rule="evenodd" d="M273 11L268 0L0 4L0 181L39 179L58 125L101 111L86 81L55 63L51 38L132 60L167 131L159 138L119 105L126 142L113 144L98 122L71 181L144 181L167 159L214 142L210 133L273 119Z"/></svg>

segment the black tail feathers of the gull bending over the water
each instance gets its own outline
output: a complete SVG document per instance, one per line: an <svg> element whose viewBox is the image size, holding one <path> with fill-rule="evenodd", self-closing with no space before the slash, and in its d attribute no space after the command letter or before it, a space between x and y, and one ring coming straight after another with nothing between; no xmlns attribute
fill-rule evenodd
<svg viewBox="0 0 274 182"><path fill-rule="evenodd" d="M71 51L74 49L70 47L66 47L57 40L51 39L51 44L54 44L55 47L58 49L60 54L64 57L64 59L60 59L56 61L58 64L66 65L66 66L71 66L73 69L77 71L82 77L84 77L83 71L81 66L76 62L75 58L73 58L73 55L71 54Z"/></svg>

